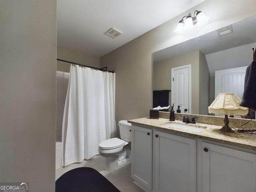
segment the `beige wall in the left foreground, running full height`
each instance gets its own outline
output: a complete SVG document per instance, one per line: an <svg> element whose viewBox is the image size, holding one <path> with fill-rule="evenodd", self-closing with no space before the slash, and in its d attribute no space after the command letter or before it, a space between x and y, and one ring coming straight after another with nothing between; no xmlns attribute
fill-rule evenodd
<svg viewBox="0 0 256 192"><path fill-rule="evenodd" d="M56 0L1 0L0 18L0 182L54 192Z"/></svg>

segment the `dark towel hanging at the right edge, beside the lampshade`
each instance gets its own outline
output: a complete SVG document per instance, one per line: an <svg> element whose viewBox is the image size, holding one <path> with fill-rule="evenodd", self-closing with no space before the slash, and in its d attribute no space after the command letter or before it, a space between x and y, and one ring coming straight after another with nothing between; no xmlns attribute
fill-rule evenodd
<svg viewBox="0 0 256 192"><path fill-rule="evenodd" d="M244 94L240 106L256 108L256 62L253 61L246 69L244 77Z"/></svg>

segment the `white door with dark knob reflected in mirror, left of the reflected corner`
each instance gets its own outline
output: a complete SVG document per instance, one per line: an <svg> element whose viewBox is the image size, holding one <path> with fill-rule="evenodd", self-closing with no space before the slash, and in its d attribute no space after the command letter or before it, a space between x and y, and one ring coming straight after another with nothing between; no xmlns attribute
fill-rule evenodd
<svg viewBox="0 0 256 192"><path fill-rule="evenodd" d="M172 68L172 99L176 110L180 106L181 113L191 113L191 65Z"/></svg>

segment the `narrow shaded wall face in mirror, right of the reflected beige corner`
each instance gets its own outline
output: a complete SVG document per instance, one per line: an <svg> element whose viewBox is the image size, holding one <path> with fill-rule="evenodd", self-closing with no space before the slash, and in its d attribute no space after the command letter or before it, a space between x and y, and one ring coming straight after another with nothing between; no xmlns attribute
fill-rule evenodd
<svg viewBox="0 0 256 192"><path fill-rule="evenodd" d="M210 73L205 55L199 51L199 114L208 115L210 105Z"/></svg>

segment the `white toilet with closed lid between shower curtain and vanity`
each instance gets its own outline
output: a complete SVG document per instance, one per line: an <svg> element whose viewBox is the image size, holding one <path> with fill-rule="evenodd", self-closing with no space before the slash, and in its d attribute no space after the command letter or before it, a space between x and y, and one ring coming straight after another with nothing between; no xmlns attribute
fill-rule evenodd
<svg viewBox="0 0 256 192"><path fill-rule="evenodd" d="M111 138L99 144L98 151L106 157L104 169L112 171L126 164L127 144L131 141L131 124L127 120L118 122L120 138Z"/></svg>

